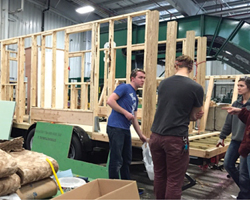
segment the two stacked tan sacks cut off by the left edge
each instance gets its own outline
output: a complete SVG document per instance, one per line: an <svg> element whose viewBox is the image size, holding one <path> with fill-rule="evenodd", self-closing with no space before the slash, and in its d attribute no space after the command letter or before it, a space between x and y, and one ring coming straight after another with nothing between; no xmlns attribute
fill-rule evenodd
<svg viewBox="0 0 250 200"><path fill-rule="evenodd" d="M20 188L20 177L16 174L17 162L0 149L0 196L14 193Z"/></svg>

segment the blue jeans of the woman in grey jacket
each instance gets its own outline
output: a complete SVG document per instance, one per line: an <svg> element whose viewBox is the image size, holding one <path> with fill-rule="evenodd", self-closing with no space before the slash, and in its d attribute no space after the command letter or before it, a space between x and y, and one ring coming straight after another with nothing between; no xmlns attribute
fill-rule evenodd
<svg viewBox="0 0 250 200"><path fill-rule="evenodd" d="M232 177L234 182L239 186L239 170L235 167L236 160L240 157L238 149L240 147L239 141L231 140L224 158L224 168ZM239 186L240 187L240 186Z"/></svg>

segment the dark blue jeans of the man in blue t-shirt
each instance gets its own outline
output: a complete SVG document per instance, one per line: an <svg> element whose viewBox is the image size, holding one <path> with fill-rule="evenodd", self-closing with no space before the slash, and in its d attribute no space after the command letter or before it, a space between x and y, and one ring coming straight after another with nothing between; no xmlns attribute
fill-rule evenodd
<svg viewBox="0 0 250 200"><path fill-rule="evenodd" d="M129 166L132 160L130 130L107 126L109 137L109 178L130 180Z"/></svg>

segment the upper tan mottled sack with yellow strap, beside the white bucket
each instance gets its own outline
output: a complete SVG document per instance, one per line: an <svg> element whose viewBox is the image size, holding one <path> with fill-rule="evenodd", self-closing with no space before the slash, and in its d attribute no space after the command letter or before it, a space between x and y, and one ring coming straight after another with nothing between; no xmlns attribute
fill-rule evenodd
<svg viewBox="0 0 250 200"><path fill-rule="evenodd" d="M21 185L48 178L53 174L46 158L52 162L56 172L59 168L55 159L42 153L23 150L20 152L11 152L10 155L13 156L17 162L17 174L21 178Z"/></svg>

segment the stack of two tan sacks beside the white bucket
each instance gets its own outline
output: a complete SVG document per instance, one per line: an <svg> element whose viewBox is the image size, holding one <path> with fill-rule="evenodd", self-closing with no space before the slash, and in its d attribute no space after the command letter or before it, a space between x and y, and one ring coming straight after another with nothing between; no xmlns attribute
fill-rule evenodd
<svg viewBox="0 0 250 200"><path fill-rule="evenodd" d="M17 194L21 199L42 199L54 196L57 193L55 181L49 178L53 175L48 158L55 171L58 171L58 163L55 159L42 153L23 150L21 152L11 152L10 155L17 162L18 171L21 178L21 188Z"/></svg>

